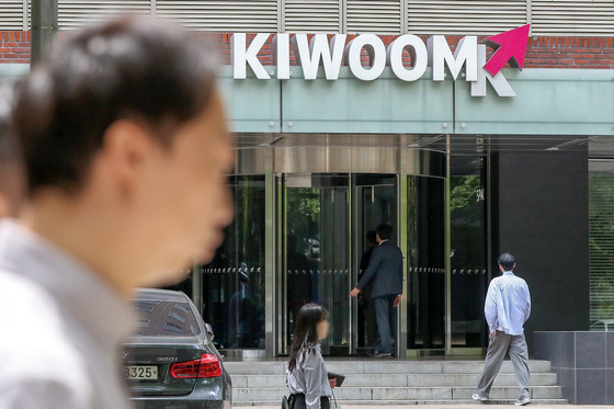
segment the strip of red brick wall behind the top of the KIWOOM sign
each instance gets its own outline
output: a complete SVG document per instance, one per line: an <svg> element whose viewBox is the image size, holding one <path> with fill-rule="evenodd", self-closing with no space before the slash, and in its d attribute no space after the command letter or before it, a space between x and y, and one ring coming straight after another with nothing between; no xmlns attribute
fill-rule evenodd
<svg viewBox="0 0 614 409"><path fill-rule="evenodd" d="M225 64L230 63L231 34L213 34L214 42L221 50ZM251 37L251 36L250 36ZM350 36L351 38L352 36ZM272 38L272 36L271 36ZM272 39L260 53L264 65L273 64ZM385 44L396 36L382 36ZM427 36L422 36L423 39ZM462 36L447 36L452 48ZM481 39L481 38L480 38ZM248 43L251 38L248 38ZM292 56L292 54L291 54ZM408 57L409 58L409 57ZM30 61L30 32L0 31L0 64ZM292 56L292 64L296 64ZM613 37L534 37L528 39L526 49L526 68L600 68L614 69Z"/></svg>

